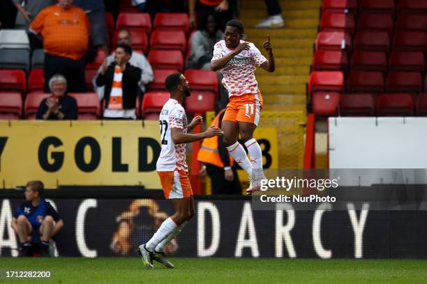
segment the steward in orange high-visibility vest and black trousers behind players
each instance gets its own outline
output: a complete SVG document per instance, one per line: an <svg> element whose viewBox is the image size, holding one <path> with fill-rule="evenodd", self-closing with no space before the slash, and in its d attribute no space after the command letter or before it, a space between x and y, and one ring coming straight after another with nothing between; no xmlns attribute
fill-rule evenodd
<svg viewBox="0 0 427 284"><path fill-rule="evenodd" d="M211 126L216 125L220 128L224 113L225 109L221 110L213 119ZM239 176L233 167L234 160L228 155L222 136L204 139L197 160L204 163L200 176L208 174L211 178L212 195L241 194Z"/></svg>

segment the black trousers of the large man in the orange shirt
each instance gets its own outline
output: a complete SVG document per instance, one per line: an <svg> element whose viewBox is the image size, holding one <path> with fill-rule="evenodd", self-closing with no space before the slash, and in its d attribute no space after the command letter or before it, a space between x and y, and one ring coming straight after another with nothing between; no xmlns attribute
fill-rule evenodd
<svg viewBox="0 0 427 284"><path fill-rule="evenodd" d="M84 93L84 60L56 56L45 53L45 92L50 93L49 80L54 74L63 74L67 79L67 90L71 93Z"/></svg>

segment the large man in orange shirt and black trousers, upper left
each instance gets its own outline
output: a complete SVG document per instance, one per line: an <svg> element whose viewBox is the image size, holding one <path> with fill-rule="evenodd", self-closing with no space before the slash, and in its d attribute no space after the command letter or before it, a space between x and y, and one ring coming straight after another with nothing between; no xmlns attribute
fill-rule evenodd
<svg viewBox="0 0 427 284"><path fill-rule="evenodd" d="M90 24L86 13L73 6L73 0L58 0L44 8L30 25L30 31L43 37L45 49L45 92L54 74L63 74L68 91L84 92L84 54L89 42Z"/></svg>

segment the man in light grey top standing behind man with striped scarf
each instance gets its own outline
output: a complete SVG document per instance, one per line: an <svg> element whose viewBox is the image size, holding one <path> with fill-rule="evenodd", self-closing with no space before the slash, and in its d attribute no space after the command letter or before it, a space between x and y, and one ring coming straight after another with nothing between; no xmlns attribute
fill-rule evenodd
<svg viewBox="0 0 427 284"><path fill-rule="evenodd" d="M119 33L117 34L117 44L132 46L132 37L130 36L129 31L119 31ZM114 54L107 57L107 65L110 65L113 62ZM129 63L132 66L140 68L140 70L142 71L140 81L138 82L138 85L140 86L139 95L140 97L142 97L145 92L145 85L149 84L149 82L153 81L154 79L153 69L151 69L151 65L147 61L147 58L145 58L143 54L140 54L138 52L132 52L132 56L130 56ZM100 74L102 69L103 65L101 65L98 69L98 74ZM104 88L99 88L98 86L96 86L96 77L93 78L93 89L97 91L98 95L100 96L100 100L102 100L104 97Z"/></svg>

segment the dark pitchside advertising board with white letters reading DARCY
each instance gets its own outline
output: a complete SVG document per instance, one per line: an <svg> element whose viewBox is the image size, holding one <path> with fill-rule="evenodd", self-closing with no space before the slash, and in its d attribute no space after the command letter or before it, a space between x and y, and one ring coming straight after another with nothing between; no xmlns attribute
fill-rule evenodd
<svg viewBox="0 0 427 284"><path fill-rule="evenodd" d="M0 253L17 256L10 220L20 200L0 200ZM130 256L172 204L155 199L54 199L65 227L60 256ZM327 208L320 205L319 209ZM169 255L234 258L425 258L427 211L252 210L250 199L197 198L196 214ZM359 210L357 210L359 209Z"/></svg>

